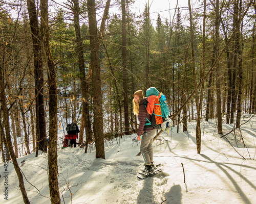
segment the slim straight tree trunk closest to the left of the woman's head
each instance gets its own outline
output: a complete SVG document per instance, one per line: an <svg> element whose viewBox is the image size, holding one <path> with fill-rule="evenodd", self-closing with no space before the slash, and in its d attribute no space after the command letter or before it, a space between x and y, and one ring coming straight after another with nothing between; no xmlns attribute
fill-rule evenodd
<svg viewBox="0 0 256 204"><path fill-rule="evenodd" d="M121 8L122 8L122 67L123 67L124 126L125 126L125 134L129 135L129 108L128 108L127 67L126 67L125 0L121 0Z"/></svg>

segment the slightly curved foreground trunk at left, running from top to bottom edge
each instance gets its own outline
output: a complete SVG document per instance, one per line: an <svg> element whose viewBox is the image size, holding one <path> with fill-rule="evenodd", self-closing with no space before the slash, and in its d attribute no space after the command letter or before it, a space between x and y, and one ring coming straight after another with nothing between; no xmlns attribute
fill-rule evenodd
<svg viewBox="0 0 256 204"><path fill-rule="evenodd" d="M42 47L46 59L48 84L49 84L49 190L52 203L60 203L58 187L58 162L57 162L57 81L56 70L50 48L50 35L48 25L48 0L41 0L41 36Z"/></svg>

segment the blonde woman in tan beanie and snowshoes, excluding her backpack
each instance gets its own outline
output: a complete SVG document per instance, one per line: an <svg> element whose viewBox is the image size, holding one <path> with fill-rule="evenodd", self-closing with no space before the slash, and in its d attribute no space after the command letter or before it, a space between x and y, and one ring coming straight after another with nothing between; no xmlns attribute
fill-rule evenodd
<svg viewBox="0 0 256 204"><path fill-rule="evenodd" d="M151 120L151 115L146 110L147 98L143 98L142 90L138 90L134 93L133 99L133 112L138 116L139 128L138 128L138 140L141 140L140 151L142 153L145 169L144 175L150 175L154 173L156 166L153 162L153 138L156 135L156 129L152 125L145 125L146 118Z"/></svg>

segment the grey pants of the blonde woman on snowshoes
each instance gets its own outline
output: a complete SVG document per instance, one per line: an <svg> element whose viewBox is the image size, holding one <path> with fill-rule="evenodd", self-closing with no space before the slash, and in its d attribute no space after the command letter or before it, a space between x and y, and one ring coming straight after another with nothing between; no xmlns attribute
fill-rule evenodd
<svg viewBox="0 0 256 204"><path fill-rule="evenodd" d="M145 164L150 164L153 161L153 138L156 136L157 130L145 131L142 135L140 151L142 153Z"/></svg>

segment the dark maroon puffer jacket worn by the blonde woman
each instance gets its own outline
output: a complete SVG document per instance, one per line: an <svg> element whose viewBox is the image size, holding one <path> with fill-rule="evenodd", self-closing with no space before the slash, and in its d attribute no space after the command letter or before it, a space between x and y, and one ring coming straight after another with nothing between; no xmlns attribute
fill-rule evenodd
<svg viewBox="0 0 256 204"><path fill-rule="evenodd" d="M139 108L139 115L138 115L140 125L139 125L138 133L137 133L138 136L142 135L142 131L144 130L145 123L146 123L146 118L148 120L151 120L151 115L147 112L146 107L143 104L146 101L147 101L146 97L140 101L140 108ZM154 127L146 129L146 131L152 131L152 130L154 130Z"/></svg>

